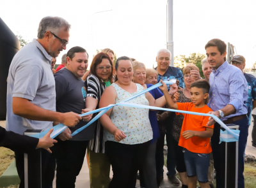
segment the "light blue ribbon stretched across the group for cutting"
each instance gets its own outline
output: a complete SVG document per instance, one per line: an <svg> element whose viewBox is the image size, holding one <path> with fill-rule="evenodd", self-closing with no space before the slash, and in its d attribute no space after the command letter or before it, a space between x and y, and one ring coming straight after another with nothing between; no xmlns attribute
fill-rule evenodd
<svg viewBox="0 0 256 188"><path fill-rule="evenodd" d="M172 83L175 83L173 80L172 81L163 81L163 82L166 83L167 85L172 85ZM147 89L142 90L141 92L139 92L138 94L132 96L131 98L128 98L125 101L122 101L121 103L116 103L114 105L109 105L109 106L106 106L104 108L99 108L97 110L93 110L93 111L81 114L80 116L83 117L85 115L89 115L89 114L92 114L92 113L100 112L92 120L90 120L90 122L88 122L88 124L86 124L83 127L80 127L76 131L74 131L74 133L72 133L71 136L74 136L77 133L80 133L81 131L83 131L83 129L85 129L86 127L90 126L93 122L95 122L95 120L99 119L99 117L102 114L106 113L110 108L113 108L113 106L121 105L121 106L135 107L135 108L148 108L148 109L153 109L153 110L165 110L165 111L170 111L170 112L188 113L188 114L192 114L192 115L202 115L202 116L212 117L216 122L218 122L218 124L220 124L221 127L223 127L224 129L227 130L228 134L232 134L232 136L234 136L234 138L236 138L237 140L239 139L239 133L233 132L234 130L232 131L231 129L229 129L225 124L223 124L223 122L220 119L218 119L218 117L216 117L215 115L212 115L212 114L189 112L189 111L183 111L183 110L173 110L173 109L169 109L169 108L159 108L159 107L156 107L156 106L147 106L147 105L138 105L138 104L134 104L134 103L127 103L127 101L130 101L131 99L134 99L134 98L140 96L141 94L145 94L146 92L148 92L148 91L150 91L152 89L155 89L155 88L157 88L157 87L159 87L161 85L162 85L162 83L159 82L156 85L152 85L152 87L148 87ZM54 129L54 131L51 134L51 138L55 138L56 136L58 136L58 134L60 134L65 129L67 129L67 126L65 126L63 124L58 124L57 126L54 126L53 129ZM35 134L32 137L42 138L46 133L48 133L48 131L49 131L49 129L43 131L42 133Z"/></svg>

